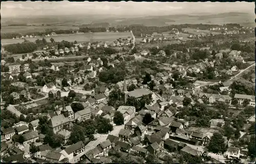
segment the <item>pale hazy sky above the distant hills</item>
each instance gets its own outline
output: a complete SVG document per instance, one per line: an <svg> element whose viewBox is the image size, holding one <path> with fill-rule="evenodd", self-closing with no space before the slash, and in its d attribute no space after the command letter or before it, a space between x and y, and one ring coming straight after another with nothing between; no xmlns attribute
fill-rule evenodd
<svg viewBox="0 0 256 164"><path fill-rule="evenodd" d="M254 3L248 2L2 2L2 17L110 14L127 16L174 15L225 12L254 13Z"/></svg>

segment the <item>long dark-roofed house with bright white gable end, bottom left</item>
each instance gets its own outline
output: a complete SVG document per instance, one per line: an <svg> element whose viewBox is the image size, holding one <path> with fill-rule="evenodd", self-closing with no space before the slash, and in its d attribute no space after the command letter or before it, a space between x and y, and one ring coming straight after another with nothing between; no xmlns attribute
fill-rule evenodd
<svg viewBox="0 0 256 164"><path fill-rule="evenodd" d="M71 145L66 149L60 151L60 153L70 160L70 159L73 159L74 156L76 156L77 154L84 152L85 151L84 148L85 148L85 145L83 144L83 142L79 141L74 145Z"/></svg>

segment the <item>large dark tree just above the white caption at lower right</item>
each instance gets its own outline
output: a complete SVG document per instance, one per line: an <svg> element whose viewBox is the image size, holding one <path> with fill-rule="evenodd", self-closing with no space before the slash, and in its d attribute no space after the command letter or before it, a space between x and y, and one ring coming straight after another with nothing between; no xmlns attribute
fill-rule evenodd
<svg viewBox="0 0 256 164"><path fill-rule="evenodd" d="M221 133L214 133L208 145L208 150L213 153L223 153L226 151L224 138Z"/></svg>

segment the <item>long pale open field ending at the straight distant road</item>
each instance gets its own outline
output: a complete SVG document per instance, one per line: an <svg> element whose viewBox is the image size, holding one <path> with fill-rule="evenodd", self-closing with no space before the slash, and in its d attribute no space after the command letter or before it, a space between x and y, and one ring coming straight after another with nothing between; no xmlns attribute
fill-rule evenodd
<svg viewBox="0 0 256 164"><path fill-rule="evenodd" d="M45 39L50 42L50 39L53 38L56 42L60 42L62 40L69 41L69 42L74 42L75 40L78 43L82 42L111 42L115 41L118 38L127 38L131 36L131 33L85 33L85 34L61 34L57 36L50 36L50 37L45 37ZM42 39L42 37L38 38L26 38L28 41L35 42L37 39ZM2 39L2 45L6 44L13 44L13 43L22 43L24 40L23 39Z"/></svg>

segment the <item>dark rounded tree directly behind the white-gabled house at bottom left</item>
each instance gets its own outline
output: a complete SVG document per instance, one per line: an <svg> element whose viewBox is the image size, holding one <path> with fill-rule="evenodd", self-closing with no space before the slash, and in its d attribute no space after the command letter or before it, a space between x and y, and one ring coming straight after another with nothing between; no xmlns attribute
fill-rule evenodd
<svg viewBox="0 0 256 164"><path fill-rule="evenodd" d="M70 141L72 144L75 144L79 141L84 142L86 140L86 133L83 127L75 125L73 126L71 133L70 133Z"/></svg>

